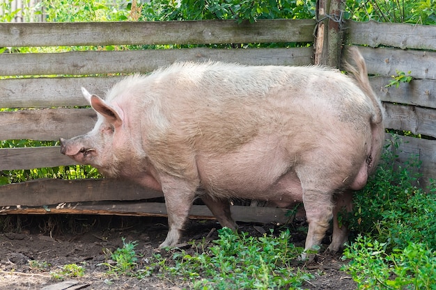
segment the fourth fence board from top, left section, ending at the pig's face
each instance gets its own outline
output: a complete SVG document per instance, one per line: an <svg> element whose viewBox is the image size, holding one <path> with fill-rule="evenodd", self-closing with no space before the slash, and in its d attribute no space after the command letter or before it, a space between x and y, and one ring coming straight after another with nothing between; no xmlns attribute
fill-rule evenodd
<svg viewBox="0 0 436 290"><path fill-rule="evenodd" d="M0 140L59 140L93 129L97 114L91 108L45 108L0 112Z"/></svg>

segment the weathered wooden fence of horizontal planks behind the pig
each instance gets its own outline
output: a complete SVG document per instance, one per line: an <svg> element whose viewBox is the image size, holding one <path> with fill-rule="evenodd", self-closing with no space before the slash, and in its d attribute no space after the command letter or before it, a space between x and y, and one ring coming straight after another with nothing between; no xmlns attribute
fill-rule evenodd
<svg viewBox="0 0 436 290"><path fill-rule="evenodd" d="M203 45L314 41L316 21L276 19L254 24L229 20L193 22L16 23L0 24L0 47ZM398 35L398 31L402 31ZM371 79L387 111L388 128L423 138L402 137L399 161L418 154L422 181L436 177L436 27L407 24L345 23L345 41L361 47ZM384 47L384 46L389 46ZM407 50L403 50L407 48ZM84 134L95 122L80 87L98 95L119 74L150 72L176 61L226 61L247 65L311 65L313 46L288 48L84 50L62 53L0 54L0 140L58 140ZM347 59L347 56L344 56ZM386 88L396 70L412 71L410 83ZM102 74L104 76L96 76ZM31 108L31 109L30 109ZM0 149L1 170L72 165L59 147ZM162 193L112 179L38 179L0 186L0 214L165 215L161 203L144 202ZM285 209L233 207L235 220L286 221ZM194 206L192 217L211 216Z"/></svg>

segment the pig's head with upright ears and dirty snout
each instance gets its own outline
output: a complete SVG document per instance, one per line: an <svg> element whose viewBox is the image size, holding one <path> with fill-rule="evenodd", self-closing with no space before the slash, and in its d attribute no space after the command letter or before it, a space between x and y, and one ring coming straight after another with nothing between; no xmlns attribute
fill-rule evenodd
<svg viewBox="0 0 436 290"><path fill-rule="evenodd" d="M123 135L121 133L123 131L123 110L96 95L91 95L85 88L81 88L81 92L98 113L98 121L94 129L87 134L68 140L61 138L61 153L78 163L98 168L104 175L116 176L121 157L118 156L117 151L123 150L123 145L128 146L120 140L123 139L120 137Z"/></svg>

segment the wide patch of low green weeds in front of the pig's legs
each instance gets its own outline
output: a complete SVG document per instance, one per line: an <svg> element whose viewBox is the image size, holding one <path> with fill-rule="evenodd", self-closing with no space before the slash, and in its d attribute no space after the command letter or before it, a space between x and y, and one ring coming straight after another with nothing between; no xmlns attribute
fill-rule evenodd
<svg viewBox="0 0 436 290"><path fill-rule="evenodd" d="M200 252L173 252L171 259L155 255L146 273L164 273L192 281L194 289L300 289L310 273L296 269L302 252L289 243L289 231L256 238L219 229L219 239ZM158 269L158 270L157 270Z"/></svg>

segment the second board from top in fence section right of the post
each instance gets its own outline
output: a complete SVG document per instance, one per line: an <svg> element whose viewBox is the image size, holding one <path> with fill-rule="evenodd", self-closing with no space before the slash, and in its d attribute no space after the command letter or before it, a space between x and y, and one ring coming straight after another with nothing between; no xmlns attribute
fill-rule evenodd
<svg viewBox="0 0 436 290"><path fill-rule="evenodd" d="M368 74L381 76L396 75L396 70L411 72L415 79L436 79L436 52L391 49L386 47L359 47L364 56ZM343 61L352 63L348 51Z"/></svg>

